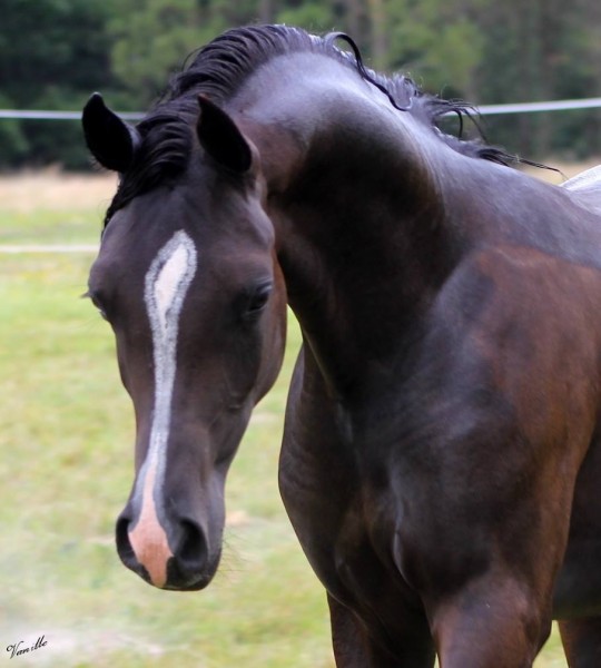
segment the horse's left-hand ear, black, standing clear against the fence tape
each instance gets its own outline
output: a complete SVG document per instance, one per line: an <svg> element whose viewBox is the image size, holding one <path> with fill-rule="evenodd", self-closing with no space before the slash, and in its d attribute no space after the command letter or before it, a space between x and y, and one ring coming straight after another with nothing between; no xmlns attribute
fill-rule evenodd
<svg viewBox="0 0 601 668"><path fill-rule="evenodd" d="M102 167L122 173L131 166L140 136L105 105L99 92L83 107L81 124L86 144Z"/></svg>

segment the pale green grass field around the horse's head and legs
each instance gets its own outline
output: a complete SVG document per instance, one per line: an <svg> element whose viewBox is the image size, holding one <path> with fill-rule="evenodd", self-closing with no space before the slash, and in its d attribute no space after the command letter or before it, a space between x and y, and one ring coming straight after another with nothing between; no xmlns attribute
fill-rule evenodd
<svg viewBox="0 0 601 668"><path fill-rule="evenodd" d="M112 188L106 176L1 178L0 246L93 244ZM155 590L114 548L134 416L110 330L79 298L92 257L0 254L0 661L43 635L14 665L332 667L324 593L276 484L297 331L228 479L216 580L198 593ZM554 635L536 668L564 666Z"/></svg>

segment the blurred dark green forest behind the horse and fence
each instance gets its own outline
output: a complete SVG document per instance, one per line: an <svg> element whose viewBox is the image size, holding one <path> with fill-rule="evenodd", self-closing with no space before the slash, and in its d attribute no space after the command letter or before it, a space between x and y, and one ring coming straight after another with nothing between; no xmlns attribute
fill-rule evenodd
<svg viewBox="0 0 601 668"><path fill-rule="evenodd" d="M348 32L366 63L475 105L601 96L599 0L2 0L0 109L146 109L186 56L244 23ZM484 119L533 159L601 154L601 110ZM77 121L0 119L0 169L89 167Z"/></svg>

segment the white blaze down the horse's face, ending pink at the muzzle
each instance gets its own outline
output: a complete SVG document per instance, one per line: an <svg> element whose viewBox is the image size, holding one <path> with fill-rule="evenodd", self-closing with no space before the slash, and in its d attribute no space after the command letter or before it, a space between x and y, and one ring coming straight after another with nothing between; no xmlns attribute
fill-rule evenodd
<svg viewBox="0 0 601 668"><path fill-rule="evenodd" d="M134 494L135 508L140 509L139 518L129 537L138 561L147 568L157 586L166 580L170 549L157 515L155 491L162 487L165 474L179 317L196 267L194 242L179 230L158 252L145 279L144 299L152 333L155 405L148 451Z"/></svg>

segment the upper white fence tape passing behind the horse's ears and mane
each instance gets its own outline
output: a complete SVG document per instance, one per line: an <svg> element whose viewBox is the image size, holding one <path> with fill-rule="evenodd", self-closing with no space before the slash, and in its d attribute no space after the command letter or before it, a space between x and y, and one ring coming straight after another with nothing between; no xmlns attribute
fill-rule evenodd
<svg viewBox="0 0 601 668"><path fill-rule="evenodd" d="M580 100L549 100L545 102L515 102L511 105L482 105L475 107L482 116L502 114L533 114L539 111L566 111L572 109L595 109L601 107L601 97ZM139 120L141 111L118 112L125 120ZM0 109L1 118L30 120L79 120L81 111L48 111L38 109Z"/></svg>

